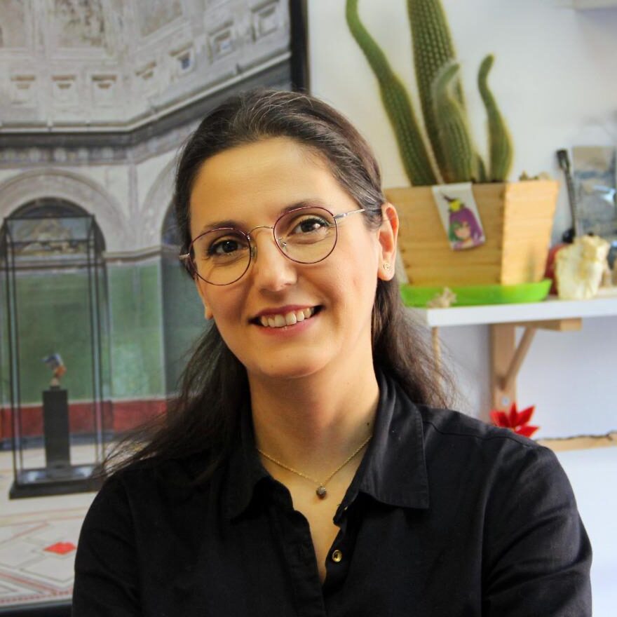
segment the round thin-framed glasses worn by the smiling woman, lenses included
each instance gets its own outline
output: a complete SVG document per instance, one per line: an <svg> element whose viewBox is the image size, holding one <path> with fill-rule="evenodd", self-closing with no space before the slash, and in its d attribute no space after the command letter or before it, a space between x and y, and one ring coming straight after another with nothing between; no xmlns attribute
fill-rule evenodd
<svg viewBox="0 0 617 617"><path fill-rule="evenodd" d="M338 238L338 222L360 210L333 215L319 206L303 206L288 210L276 219L274 226L257 225L250 231L235 227L210 229L191 241L188 252L179 258L189 271L211 285L231 285L248 271L257 248L251 243L255 229L271 229L274 242L287 259L298 264L316 264L334 250Z"/></svg>

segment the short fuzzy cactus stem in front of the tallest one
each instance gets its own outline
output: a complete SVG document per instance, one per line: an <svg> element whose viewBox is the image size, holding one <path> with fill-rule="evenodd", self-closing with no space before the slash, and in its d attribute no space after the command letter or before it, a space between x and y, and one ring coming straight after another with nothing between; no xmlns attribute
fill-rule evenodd
<svg viewBox="0 0 617 617"><path fill-rule="evenodd" d="M442 175L446 182L469 182L477 177L477 153L467 116L454 90L459 65L449 62L433 82L433 112L439 118L438 137L444 153Z"/></svg>

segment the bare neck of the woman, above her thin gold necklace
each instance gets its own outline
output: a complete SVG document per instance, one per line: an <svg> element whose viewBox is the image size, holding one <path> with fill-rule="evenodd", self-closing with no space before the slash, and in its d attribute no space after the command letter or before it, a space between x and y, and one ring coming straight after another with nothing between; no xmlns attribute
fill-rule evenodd
<svg viewBox="0 0 617 617"><path fill-rule="evenodd" d="M277 380L249 377L257 447L321 477L372 434L379 400L374 369Z"/></svg>

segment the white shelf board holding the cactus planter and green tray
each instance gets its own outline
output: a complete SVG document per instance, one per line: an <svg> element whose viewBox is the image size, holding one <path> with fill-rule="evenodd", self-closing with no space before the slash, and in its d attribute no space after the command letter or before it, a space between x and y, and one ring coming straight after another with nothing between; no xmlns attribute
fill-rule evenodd
<svg viewBox="0 0 617 617"><path fill-rule="evenodd" d="M410 309L429 327L520 323L555 319L617 316L617 297L591 300L548 299L529 304L491 304Z"/></svg>

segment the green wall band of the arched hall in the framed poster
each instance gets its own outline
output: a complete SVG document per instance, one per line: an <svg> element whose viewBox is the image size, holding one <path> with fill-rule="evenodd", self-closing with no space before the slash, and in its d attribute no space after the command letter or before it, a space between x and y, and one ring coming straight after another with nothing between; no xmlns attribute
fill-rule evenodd
<svg viewBox="0 0 617 617"><path fill-rule="evenodd" d="M176 259L107 266L101 284L104 398L158 398L175 390L205 320L195 287ZM8 404L6 289L0 276L0 395ZM28 273L17 283L22 405L40 404L50 371L41 358L60 353L62 386L72 400L93 395L93 359L85 272ZM109 315L105 314L109 311ZM109 328L109 330L107 330Z"/></svg>

